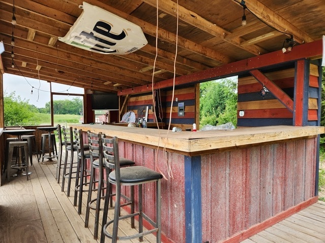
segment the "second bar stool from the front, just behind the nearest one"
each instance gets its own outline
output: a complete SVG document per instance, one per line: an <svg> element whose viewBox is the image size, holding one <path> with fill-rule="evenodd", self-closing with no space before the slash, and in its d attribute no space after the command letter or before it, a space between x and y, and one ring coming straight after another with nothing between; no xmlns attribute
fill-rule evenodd
<svg viewBox="0 0 325 243"><path fill-rule="evenodd" d="M88 227L89 222L89 213L90 209L95 210L95 224L94 224L94 232L93 237L94 239L98 238L98 228L99 228L99 217L100 217L100 211L102 211L104 208L101 208L101 199L104 199L104 190L107 188L105 186L105 183L107 184L107 181L104 180L104 168L105 168L105 160L103 156L103 146L100 145L100 139L101 137L105 137L105 134L94 134L94 133L87 133L88 136L88 144L89 144L89 153L90 153L90 165L91 165L91 171L90 171L90 184L88 188L88 199L87 199L87 208L86 208L86 217L85 217L85 227ZM135 161L121 158L120 159L120 166L133 166ZM96 171L98 171L98 180L96 180ZM93 188L95 183L98 183L97 189ZM93 190L97 190L97 196L94 199L91 199L91 194ZM109 193L111 196L112 194L112 187L110 187L110 191L105 190L106 193ZM132 190L133 191L133 190ZM133 195L131 198L128 198L124 195L122 195L127 202L123 206L131 205L132 208L134 208L133 201L131 198L133 198ZM110 203L112 200L110 201ZM111 204L112 207L112 204ZM134 219L133 219L133 225L134 225Z"/></svg>

